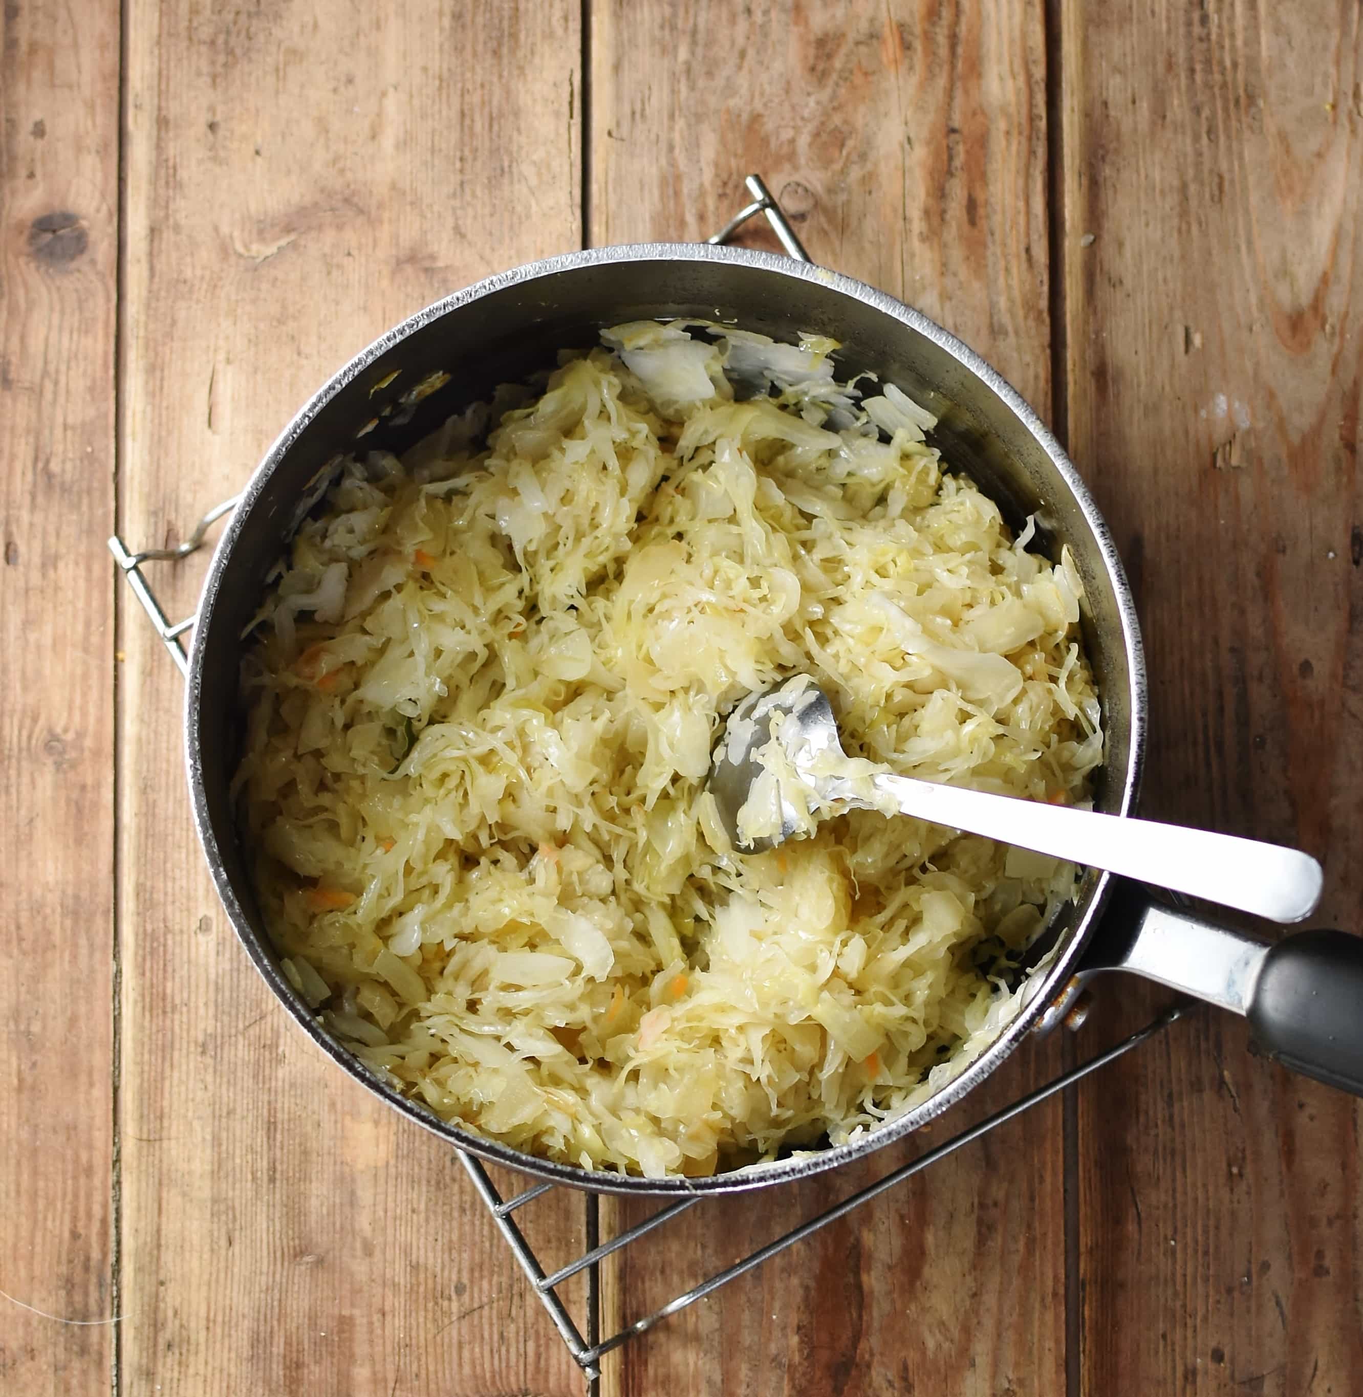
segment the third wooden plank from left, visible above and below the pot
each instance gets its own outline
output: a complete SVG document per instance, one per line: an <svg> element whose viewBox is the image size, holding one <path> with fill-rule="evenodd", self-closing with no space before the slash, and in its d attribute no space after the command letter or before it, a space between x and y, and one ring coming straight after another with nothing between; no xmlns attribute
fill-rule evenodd
<svg viewBox="0 0 1363 1397"><path fill-rule="evenodd" d="M593 6L589 84L593 243L705 236L759 170L818 261L942 320L1047 411L1040 6L615 0ZM1021 1055L970 1112L1058 1070L1060 1051ZM1061 1136L1058 1105L1037 1111L668 1320L608 1359L604 1390L1061 1390ZM603 1331L889 1162L703 1204L619 1253ZM604 1203L604 1234L640 1211Z"/></svg>

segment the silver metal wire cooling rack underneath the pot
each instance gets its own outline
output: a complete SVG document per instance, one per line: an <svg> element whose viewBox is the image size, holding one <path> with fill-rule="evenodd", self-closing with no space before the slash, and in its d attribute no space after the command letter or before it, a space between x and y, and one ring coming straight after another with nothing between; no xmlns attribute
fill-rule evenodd
<svg viewBox="0 0 1363 1397"><path fill-rule="evenodd" d="M713 237L709 239L712 243L727 242L744 224L763 214L767 222L772 225L777 239L786 251L800 260L808 261L808 254L800 243L795 231L791 228L786 219L777 201L773 198L772 193L767 190L762 177L758 175L749 175L747 179L748 193L752 196L752 201L742 208L730 222L720 229ZM236 499L231 499L218 504L215 509L210 510L194 527L190 536L180 545L175 548L161 548L161 549L144 549L141 552L131 552L120 538L115 536L109 539L109 549L115 556L119 570L123 573L129 585L133 588L133 594L141 604L143 609L147 612L151 623L159 636L161 641L169 651L176 668L182 673L187 673L187 659L183 648L183 637L193 629L197 616L189 616L185 620L172 623L166 619L162 612L154 592L151 591L147 580L143 577L141 567L144 563L151 562L179 562L187 557L190 553L196 552L203 541L208 527L217 520L228 514L236 504ZM1075 986L1078 988L1078 986ZM1064 996L1051 1010L1047 1011L1046 1017L1040 1023L1043 1031L1054 1027L1060 1023L1067 1010L1072 1006L1072 995ZM601 1358L622 1344L626 1344L632 1338L637 1338L640 1334L646 1334L654 1326L660 1324L670 1315L675 1315L679 1310L695 1305L698 1301L713 1295L720 1287L727 1285L730 1281L738 1280L738 1277L745 1275L748 1271L755 1270L762 1266L763 1261L769 1261L772 1257L795 1246L798 1242L805 1241L812 1236L821 1228L828 1227L830 1222L836 1222L839 1218L846 1217L849 1213L870 1203L872 1199L879 1197L882 1193L889 1192L897 1185L903 1183L906 1179L913 1178L916 1173L921 1173L924 1169L937 1164L939 1160L945 1160L949 1154L955 1154L963 1146L979 1140L981 1136L988 1134L991 1130L997 1130L1000 1126L1007 1125L1007 1122L1014 1120L1023 1112L1030 1111L1033 1106L1040 1105L1043 1101L1057 1095L1075 1083L1081 1081L1089 1073L1097 1071L1099 1067L1114 1062L1117 1058L1131 1052L1141 1044L1153 1038L1156 1034L1167 1028L1176 1018L1178 1018L1185 1010L1187 1003L1174 1004L1171 1009L1162 1013L1158 1018L1152 1020L1144 1028L1124 1038L1116 1046L1109 1048L1106 1052L1099 1053L1096 1058L1071 1069L1055 1077L1053 1081L1027 1092L1025 1097L1019 1097L1011 1105L1004 1106L1001 1111L995 1111L993 1115L986 1116L983 1120L960 1130L951 1139L942 1141L927 1153L918 1155L916 1160L910 1160L907 1164L892 1169L884 1178L877 1179L874 1183L867 1185L863 1189L849 1194L840 1203L825 1208L822 1213L815 1214L798 1227L791 1228L788 1232L774 1238L773 1241L759 1246L755 1252L734 1261L731 1266L716 1271L689 1289L681 1291L678 1295L672 1296L665 1305L653 1310L649 1315L628 1323L623 1329L614 1334L601 1336L600 1334L600 1308L597 1303L597 1296L600 1292L600 1266L615 1252L623 1250L636 1242L640 1242L649 1234L654 1232L657 1228L665 1227L672 1222L681 1214L693 1208L698 1203L703 1201L702 1196L685 1197L678 1203L670 1203L658 1208L650 1217L644 1218L642 1222L636 1222L633 1227L626 1228L618 1235L601 1239L600 1236L600 1197L597 1194L587 1194L587 1249L573 1260L556 1270L545 1271L544 1264L540 1260L534 1246L526 1235L526 1229L520 1225L516 1214L521 1213L528 1204L534 1203L537 1199L544 1197L548 1193L563 1192L562 1185L554 1183L538 1183L531 1187L524 1189L520 1193L514 1193L510 1197L503 1197L498 1190L496 1185L492 1182L491 1175L484 1168L482 1162L474 1155L459 1153L460 1162L473 1180L473 1186L477 1190L479 1199L486 1204L488 1211L495 1221L498 1231L502 1234L507 1246L512 1249L520 1268L526 1273L526 1278L530 1281L531 1288L538 1296L541 1305L544 1305L545 1312L554 1322L555 1329L562 1337L572 1354L575 1362L582 1369L587 1379L589 1389L596 1391L597 1380L601 1376ZM1072 1027L1078 1027L1079 1018L1067 1020ZM699 1220L698 1220L699 1221ZM575 1275L587 1273L587 1301L586 1301L586 1315L582 1323L573 1319L568 1312L563 1299L559 1296L559 1288Z"/></svg>

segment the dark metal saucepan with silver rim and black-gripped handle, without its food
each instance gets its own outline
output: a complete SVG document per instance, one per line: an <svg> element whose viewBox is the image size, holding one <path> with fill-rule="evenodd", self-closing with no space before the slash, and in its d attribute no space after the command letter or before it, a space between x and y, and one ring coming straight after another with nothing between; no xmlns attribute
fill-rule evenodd
<svg viewBox="0 0 1363 1397"><path fill-rule="evenodd" d="M793 236L784 240L801 253ZM1064 1017L1085 978L1103 968L1137 971L1247 1013L1272 1055L1363 1091L1363 940L1307 932L1269 947L1097 872L1085 876L1074 904L1050 928L1054 958L1044 975L1033 978L1022 1011L945 1090L854 1144L760 1171L643 1179L534 1158L449 1125L398 1095L319 1025L278 968L252 894L229 796L238 753L240 634L266 574L326 489L336 458L355 450L356 439L363 450L400 453L496 383L542 369L563 346L594 342L603 326L677 316L733 320L786 339L815 331L842 341L847 370L874 370L938 415L935 441L945 460L973 475L1012 525L1036 515L1034 548L1055 556L1061 543L1069 545L1088 592L1083 626L1109 735L1096 803L1106 812L1131 812L1146 729L1145 665L1131 591L1074 465L983 359L890 296L797 258L677 243L569 253L449 296L348 363L271 447L214 555L187 665L185 739L194 819L232 925L302 1030L368 1090L450 1144L544 1179L615 1193L765 1187L879 1148L965 1097L1026 1034ZM403 395L438 370L449 374L447 384L411 411ZM154 609L136 567L145 555L134 559L120 546L115 552L144 605Z"/></svg>

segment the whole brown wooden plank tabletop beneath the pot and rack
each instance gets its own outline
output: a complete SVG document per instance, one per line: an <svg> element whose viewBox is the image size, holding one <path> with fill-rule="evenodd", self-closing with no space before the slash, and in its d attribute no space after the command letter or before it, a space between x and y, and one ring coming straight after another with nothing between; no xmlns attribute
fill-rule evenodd
<svg viewBox="0 0 1363 1397"><path fill-rule="evenodd" d="M4 1393L582 1390L450 1151L250 971L179 676L103 541L182 536L408 312L703 236L748 170L1068 441L1139 598L1146 813L1299 842L1320 921L1363 930L1350 0L17 0L3 27ZM157 583L189 612L200 573ZM1158 1003L1107 986L958 1120ZM1360 1123L1198 1014L603 1391L1357 1393ZM603 1333L921 1148L696 1210L603 1268ZM551 1255L583 1245L582 1199L534 1208Z"/></svg>

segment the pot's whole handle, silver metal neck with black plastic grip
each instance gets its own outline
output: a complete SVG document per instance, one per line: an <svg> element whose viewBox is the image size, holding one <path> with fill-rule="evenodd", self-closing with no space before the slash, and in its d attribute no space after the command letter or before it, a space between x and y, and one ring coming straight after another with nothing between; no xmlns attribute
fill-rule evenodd
<svg viewBox="0 0 1363 1397"><path fill-rule="evenodd" d="M1243 1014L1269 1058L1363 1097L1363 936L1310 930L1262 942L1123 883L1076 981L1113 970Z"/></svg>

